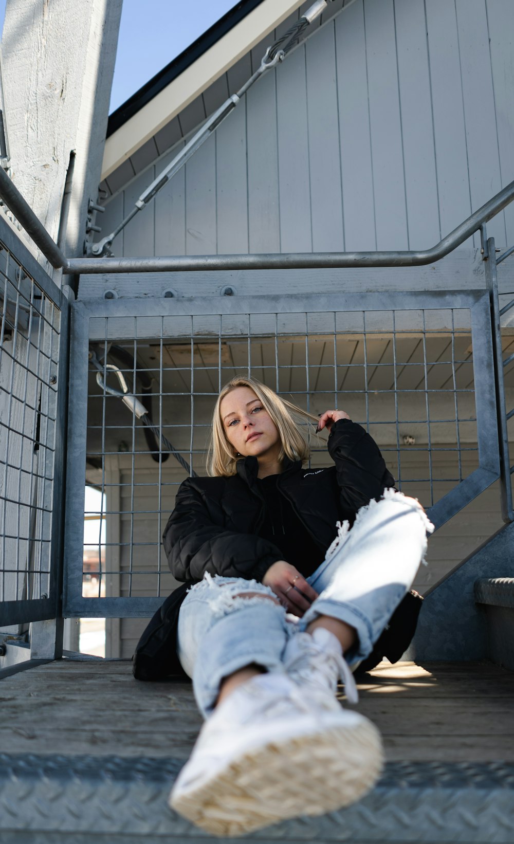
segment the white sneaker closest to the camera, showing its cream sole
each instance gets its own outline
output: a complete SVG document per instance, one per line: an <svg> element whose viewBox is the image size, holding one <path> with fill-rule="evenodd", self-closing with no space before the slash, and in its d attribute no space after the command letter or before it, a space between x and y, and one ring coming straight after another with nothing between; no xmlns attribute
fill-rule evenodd
<svg viewBox="0 0 514 844"><path fill-rule="evenodd" d="M285 674L239 686L203 725L170 806L217 836L354 803L382 768L380 733Z"/></svg>

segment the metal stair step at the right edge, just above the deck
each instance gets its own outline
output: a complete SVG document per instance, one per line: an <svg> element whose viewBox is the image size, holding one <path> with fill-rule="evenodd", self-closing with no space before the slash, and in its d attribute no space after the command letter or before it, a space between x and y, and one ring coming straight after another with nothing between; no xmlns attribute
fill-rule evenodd
<svg viewBox="0 0 514 844"><path fill-rule="evenodd" d="M474 598L484 606L490 659L514 671L514 577L479 578Z"/></svg>

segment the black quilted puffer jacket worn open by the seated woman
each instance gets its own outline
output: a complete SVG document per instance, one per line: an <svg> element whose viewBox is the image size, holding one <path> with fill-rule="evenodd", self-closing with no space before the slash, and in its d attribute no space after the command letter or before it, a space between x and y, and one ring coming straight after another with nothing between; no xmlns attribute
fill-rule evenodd
<svg viewBox="0 0 514 844"><path fill-rule="evenodd" d="M365 430L340 419L328 437L335 465L302 469L286 463L278 488L324 553L336 535L336 522L354 522L356 512L394 484L381 453ZM264 502L257 489L257 459L246 457L231 478L191 478L176 495L176 507L164 533L170 569L184 581L154 614L133 656L137 679L161 680L185 674L176 653L176 631L187 583L202 580L206 571L225 576L262 580L283 554L257 536ZM294 560L290 560L294 564ZM361 663L367 670L386 656L396 662L414 636L421 601L408 593L381 634L370 656Z"/></svg>

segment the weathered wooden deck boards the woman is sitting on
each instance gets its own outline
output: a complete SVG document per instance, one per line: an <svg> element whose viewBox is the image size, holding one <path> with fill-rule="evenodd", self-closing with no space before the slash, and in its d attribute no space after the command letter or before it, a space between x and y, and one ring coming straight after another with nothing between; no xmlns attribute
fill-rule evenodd
<svg viewBox="0 0 514 844"><path fill-rule="evenodd" d="M359 711L387 760L514 762L514 674L490 663L386 663ZM141 683L125 661L62 660L0 681L8 754L186 759L201 725L190 684Z"/></svg>

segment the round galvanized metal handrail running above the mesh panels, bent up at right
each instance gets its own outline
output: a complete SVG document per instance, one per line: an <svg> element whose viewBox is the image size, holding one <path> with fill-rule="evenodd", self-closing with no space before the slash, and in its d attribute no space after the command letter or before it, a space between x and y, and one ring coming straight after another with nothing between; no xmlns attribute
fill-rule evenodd
<svg viewBox="0 0 514 844"><path fill-rule="evenodd" d="M351 267L420 267L434 263L468 240L514 199L514 181L491 197L478 211L422 252L290 252L262 255L195 255L170 257L67 258L52 241L17 187L0 167L0 197L51 266L67 275L90 273L160 273L233 269L323 269Z"/></svg>

